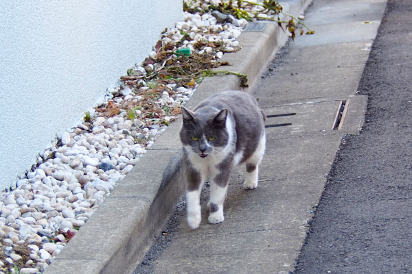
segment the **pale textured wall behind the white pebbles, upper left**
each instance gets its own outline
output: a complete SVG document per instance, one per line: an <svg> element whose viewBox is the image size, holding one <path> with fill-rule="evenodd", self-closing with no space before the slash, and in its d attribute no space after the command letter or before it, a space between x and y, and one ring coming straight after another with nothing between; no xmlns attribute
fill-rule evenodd
<svg viewBox="0 0 412 274"><path fill-rule="evenodd" d="M0 11L0 189L183 18L182 0L3 0Z"/></svg>

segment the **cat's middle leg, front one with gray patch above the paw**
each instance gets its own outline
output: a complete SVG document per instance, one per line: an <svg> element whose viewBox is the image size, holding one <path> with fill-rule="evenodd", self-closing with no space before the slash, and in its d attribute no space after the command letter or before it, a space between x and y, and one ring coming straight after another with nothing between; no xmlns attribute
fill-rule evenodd
<svg viewBox="0 0 412 274"><path fill-rule="evenodd" d="M225 219L223 216L223 203L225 202L227 186L229 184L230 171L221 171L219 175L211 179L210 182L210 199L207 206L209 207L209 223L222 223Z"/></svg>

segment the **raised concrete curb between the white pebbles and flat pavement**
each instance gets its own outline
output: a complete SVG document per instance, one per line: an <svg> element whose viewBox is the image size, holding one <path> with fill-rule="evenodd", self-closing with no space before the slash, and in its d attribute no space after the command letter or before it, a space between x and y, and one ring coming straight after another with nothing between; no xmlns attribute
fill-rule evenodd
<svg viewBox="0 0 412 274"><path fill-rule="evenodd" d="M282 5L284 12L298 16L310 3L297 0ZM242 32L242 49L224 55L223 60L231 66L223 69L247 74L249 88L244 91L251 92L262 70L287 39L288 35L274 23L265 23L262 32ZM207 77L187 106L192 108L216 92L238 90L239 84L234 75ZM180 128L181 119L170 125L45 273L133 272L183 194L183 180L179 178Z"/></svg>

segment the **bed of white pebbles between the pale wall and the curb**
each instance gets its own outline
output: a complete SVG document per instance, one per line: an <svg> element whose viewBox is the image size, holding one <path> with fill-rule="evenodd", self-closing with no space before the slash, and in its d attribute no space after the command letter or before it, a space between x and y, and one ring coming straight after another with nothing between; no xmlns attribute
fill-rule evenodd
<svg viewBox="0 0 412 274"><path fill-rule="evenodd" d="M210 1L214 2L218 1ZM207 1L202 3L198 9L206 8ZM262 7L253 9L260 12ZM168 48L190 49L217 61L223 53L240 49L236 38L246 25L244 18L216 11L185 12L184 20L162 34L145 61L159 60ZM220 47L214 47L216 42ZM131 77L108 91L105 102L86 115L86 122L62 134L30 171L1 192L0 273L43 272L177 119L198 83L148 81L148 75L159 72L167 61L142 62L130 69Z"/></svg>

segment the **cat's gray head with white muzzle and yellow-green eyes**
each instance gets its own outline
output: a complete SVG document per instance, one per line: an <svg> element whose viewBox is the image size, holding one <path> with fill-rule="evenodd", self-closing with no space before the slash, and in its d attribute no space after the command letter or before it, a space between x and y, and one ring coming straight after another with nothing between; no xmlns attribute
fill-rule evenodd
<svg viewBox="0 0 412 274"><path fill-rule="evenodd" d="M226 128L228 110L201 108L194 112L182 107L182 114L183 127L180 137L186 149L205 158L227 145L229 140Z"/></svg>

